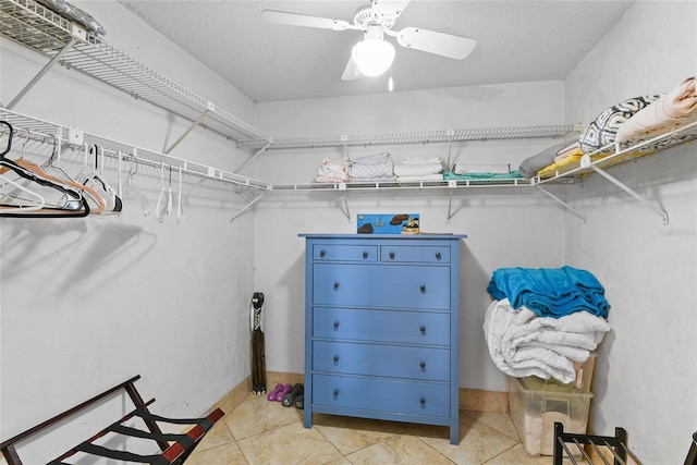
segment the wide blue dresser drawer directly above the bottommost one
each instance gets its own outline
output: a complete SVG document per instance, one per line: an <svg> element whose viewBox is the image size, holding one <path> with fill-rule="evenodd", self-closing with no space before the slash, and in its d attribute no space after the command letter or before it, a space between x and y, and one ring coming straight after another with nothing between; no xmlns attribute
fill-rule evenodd
<svg viewBox="0 0 697 465"><path fill-rule="evenodd" d="M313 370L428 381L450 380L448 348L313 342Z"/></svg>

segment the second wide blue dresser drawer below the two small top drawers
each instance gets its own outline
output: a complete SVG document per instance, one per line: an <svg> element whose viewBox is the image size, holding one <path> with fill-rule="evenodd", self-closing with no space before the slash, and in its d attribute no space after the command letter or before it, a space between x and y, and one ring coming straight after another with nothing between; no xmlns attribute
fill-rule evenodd
<svg viewBox="0 0 697 465"><path fill-rule="evenodd" d="M313 336L331 340L450 345L450 314L315 307Z"/></svg>

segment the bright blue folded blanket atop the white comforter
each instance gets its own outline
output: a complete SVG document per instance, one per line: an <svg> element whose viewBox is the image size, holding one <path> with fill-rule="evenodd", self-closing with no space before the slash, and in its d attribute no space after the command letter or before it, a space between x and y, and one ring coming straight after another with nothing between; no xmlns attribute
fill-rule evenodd
<svg viewBox="0 0 697 465"><path fill-rule="evenodd" d="M540 317L560 318L586 310L608 318L610 304L604 287L589 271L562 268L500 268L487 291L493 298L508 298L514 309L525 305Z"/></svg>

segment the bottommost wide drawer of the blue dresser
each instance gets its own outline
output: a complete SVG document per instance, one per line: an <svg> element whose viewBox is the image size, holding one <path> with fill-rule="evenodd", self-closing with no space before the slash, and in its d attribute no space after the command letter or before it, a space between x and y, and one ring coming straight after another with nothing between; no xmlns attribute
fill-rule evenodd
<svg viewBox="0 0 697 465"><path fill-rule="evenodd" d="M449 417L448 384L313 375L313 404Z"/></svg>

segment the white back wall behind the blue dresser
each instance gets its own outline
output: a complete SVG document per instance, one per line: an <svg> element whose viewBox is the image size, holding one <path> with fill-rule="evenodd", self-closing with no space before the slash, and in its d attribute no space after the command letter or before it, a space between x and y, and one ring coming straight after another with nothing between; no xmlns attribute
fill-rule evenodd
<svg viewBox="0 0 697 465"><path fill-rule="evenodd" d="M274 136L329 136L560 124L562 108L562 83L545 82L258 103L257 118ZM451 161L517 168L555 143L457 143ZM348 155L382 150L395 162L448 157L447 144L350 148ZM323 157L341 155L341 149L274 150L255 161L255 174L273 183L308 183ZM267 367L304 369L304 240L297 234L355 232L357 213L418 212L423 231L468 234L461 260L460 386L505 391L506 378L491 363L481 328L490 303L486 287L500 267L563 265L563 210L536 189L521 187L456 191L451 220L448 189L351 192L347 203L350 218L338 193L274 194L257 204L256 283L267 292Z"/></svg>

